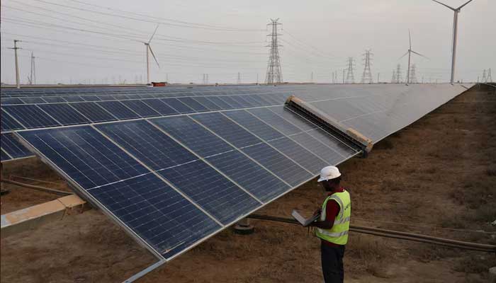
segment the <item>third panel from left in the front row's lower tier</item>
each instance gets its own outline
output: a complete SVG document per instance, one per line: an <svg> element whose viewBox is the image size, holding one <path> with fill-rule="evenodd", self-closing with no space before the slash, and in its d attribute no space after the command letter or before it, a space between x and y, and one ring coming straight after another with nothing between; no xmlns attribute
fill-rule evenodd
<svg viewBox="0 0 496 283"><path fill-rule="evenodd" d="M206 160L263 202L272 200L290 188L239 151L229 151Z"/></svg>

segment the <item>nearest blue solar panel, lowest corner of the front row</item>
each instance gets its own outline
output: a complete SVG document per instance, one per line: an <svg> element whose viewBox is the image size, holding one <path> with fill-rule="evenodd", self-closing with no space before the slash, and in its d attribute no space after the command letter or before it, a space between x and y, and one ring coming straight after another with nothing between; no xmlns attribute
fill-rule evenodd
<svg viewBox="0 0 496 283"><path fill-rule="evenodd" d="M165 258L222 228L153 174L89 193Z"/></svg>

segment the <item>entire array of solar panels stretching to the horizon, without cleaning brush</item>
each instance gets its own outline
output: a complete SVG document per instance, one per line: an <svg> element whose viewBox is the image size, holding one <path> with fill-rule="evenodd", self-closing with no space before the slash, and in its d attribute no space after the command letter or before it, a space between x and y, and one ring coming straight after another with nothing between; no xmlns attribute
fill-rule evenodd
<svg viewBox="0 0 496 283"><path fill-rule="evenodd" d="M314 178L323 166L359 154L283 106L289 95L372 133L376 141L466 90L449 85L271 89L278 91L2 105L2 115L11 118L6 127L23 144L90 202L159 258L171 260ZM21 110L26 106L29 110ZM33 120L38 117L33 112L40 118ZM388 123L388 117L395 122ZM2 156L3 150L4 137Z"/></svg>

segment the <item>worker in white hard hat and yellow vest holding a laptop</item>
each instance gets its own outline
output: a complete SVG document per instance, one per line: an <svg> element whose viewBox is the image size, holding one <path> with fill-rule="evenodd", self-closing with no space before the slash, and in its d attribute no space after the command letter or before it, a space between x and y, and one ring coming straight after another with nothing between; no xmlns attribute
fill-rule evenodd
<svg viewBox="0 0 496 283"><path fill-rule="evenodd" d="M327 192L321 209L320 221L314 221L315 236L320 238L322 273L325 283L337 283L344 280L343 256L348 242L349 217L351 215L351 198L349 192L339 183L341 173L336 166L326 166L320 171L317 182Z"/></svg>

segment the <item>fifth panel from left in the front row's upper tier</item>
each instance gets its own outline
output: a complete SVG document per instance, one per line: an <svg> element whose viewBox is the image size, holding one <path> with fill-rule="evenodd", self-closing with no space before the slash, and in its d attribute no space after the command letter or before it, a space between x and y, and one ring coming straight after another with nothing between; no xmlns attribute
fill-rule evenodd
<svg viewBox="0 0 496 283"><path fill-rule="evenodd" d="M276 129L262 122L261 120L259 120L259 118L250 114L246 110L225 111L222 112L222 114L230 117L239 125L247 128L250 132L256 134L258 137L264 139L265 141L284 137L284 135L276 131Z"/></svg>

